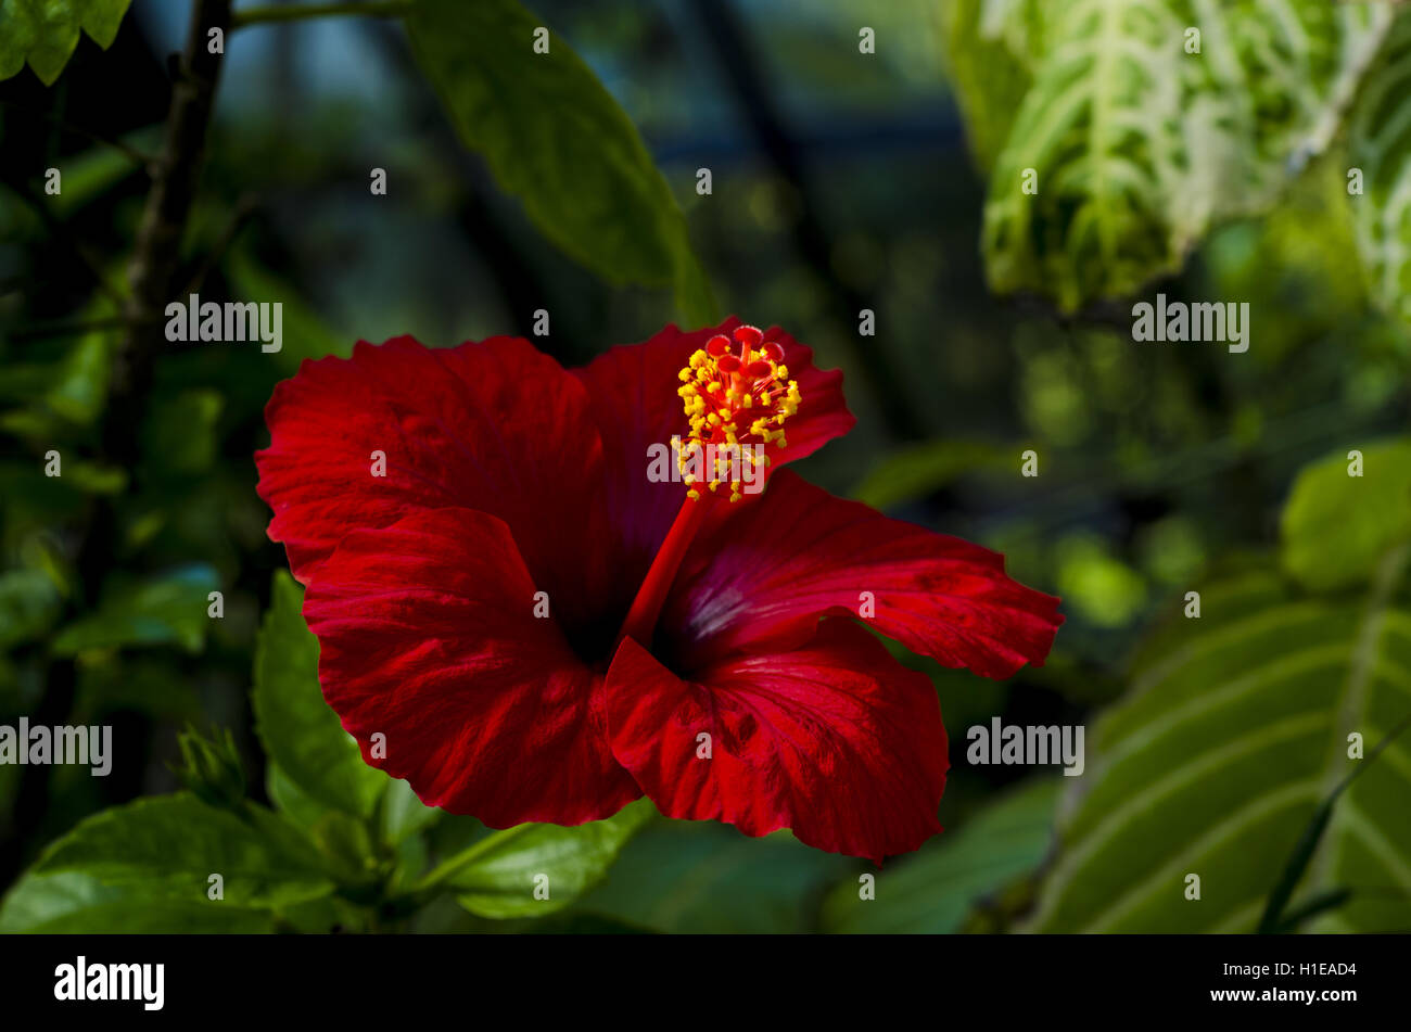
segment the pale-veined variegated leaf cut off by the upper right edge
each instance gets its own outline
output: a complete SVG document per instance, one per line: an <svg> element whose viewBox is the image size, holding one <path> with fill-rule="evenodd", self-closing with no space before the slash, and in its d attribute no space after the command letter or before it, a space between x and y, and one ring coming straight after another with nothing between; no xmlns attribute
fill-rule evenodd
<svg viewBox="0 0 1411 1032"><path fill-rule="evenodd" d="M1371 296L1411 323L1411 11L1397 16L1349 120L1349 165L1362 196L1349 196Z"/></svg>

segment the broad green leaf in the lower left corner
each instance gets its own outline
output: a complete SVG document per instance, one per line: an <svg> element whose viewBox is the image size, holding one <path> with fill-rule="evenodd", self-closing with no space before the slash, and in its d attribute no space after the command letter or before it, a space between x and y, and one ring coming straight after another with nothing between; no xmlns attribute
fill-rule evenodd
<svg viewBox="0 0 1411 1032"><path fill-rule="evenodd" d="M250 821L185 792L137 799L82 821L52 843L35 874L78 871L144 898L212 907L281 907L333 891L312 850L250 806ZM261 816L265 819L255 819ZM224 899L209 901L209 877Z"/></svg>

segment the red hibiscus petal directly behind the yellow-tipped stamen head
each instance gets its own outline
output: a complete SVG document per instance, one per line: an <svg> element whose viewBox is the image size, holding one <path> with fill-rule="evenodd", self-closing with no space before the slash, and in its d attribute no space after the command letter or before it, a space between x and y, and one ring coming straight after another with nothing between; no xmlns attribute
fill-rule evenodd
<svg viewBox="0 0 1411 1032"><path fill-rule="evenodd" d="M626 546L625 582L641 582L686 496L680 484L646 479L648 447L669 444L673 434L686 437L690 429L676 393L682 385L676 374L693 351L739 324L731 316L718 327L691 333L667 326L645 344L615 347L573 371L588 388L602 437L608 512ZM803 396L799 412L785 424L789 447L769 448L773 469L813 454L856 420L842 399L840 371L814 368L813 351L777 327L766 336L785 348L789 375L799 381Z"/></svg>

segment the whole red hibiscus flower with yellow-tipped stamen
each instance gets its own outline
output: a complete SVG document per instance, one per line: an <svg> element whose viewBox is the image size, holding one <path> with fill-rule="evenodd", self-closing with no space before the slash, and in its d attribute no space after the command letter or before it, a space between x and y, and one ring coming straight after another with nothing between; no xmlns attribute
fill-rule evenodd
<svg viewBox="0 0 1411 1032"><path fill-rule="evenodd" d="M878 860L940 830L935 691L848 618L985 677L1040 663L1062 618L1002 555L779 468L852 426L841 381L734 319L574 371L509 337L305 362L265 410L260 495L364 758L497 828L645 792ZM766 458L663 482L673 436L683 461Z"/></svg>

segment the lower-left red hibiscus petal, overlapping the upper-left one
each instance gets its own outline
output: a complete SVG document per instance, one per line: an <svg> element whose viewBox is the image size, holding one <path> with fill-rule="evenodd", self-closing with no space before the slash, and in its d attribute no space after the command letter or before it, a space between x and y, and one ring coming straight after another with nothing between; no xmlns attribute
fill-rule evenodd
<svg viewBox="0 0 1411 1032"><path fill-rule="evenodd" d="M605 739L601 674L533 615L535 591L501 520L432 509L344 537L303 602L323 696L363 757L492 828L597 821L641 795Z"/></svg>

